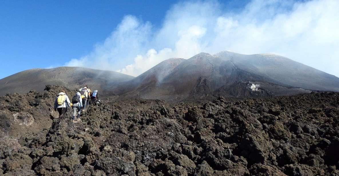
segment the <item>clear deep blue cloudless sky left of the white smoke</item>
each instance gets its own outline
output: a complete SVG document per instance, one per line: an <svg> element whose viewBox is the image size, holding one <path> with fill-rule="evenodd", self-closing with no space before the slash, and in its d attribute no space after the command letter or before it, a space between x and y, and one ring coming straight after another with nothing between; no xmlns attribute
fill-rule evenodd
<svg viewBox="0 0 339 176"><path fill-rule="evenodd" d="M175 2L1 1L0 59L7 67L0 78L89 53L127 14L159 25Z"/></svg>

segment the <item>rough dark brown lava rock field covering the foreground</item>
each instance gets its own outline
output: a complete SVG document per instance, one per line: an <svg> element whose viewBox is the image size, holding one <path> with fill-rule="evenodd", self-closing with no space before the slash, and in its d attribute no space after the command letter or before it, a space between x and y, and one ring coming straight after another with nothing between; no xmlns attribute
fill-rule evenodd
<svg viewBox="0 0 339 176"><path fill-rule="evenodd" d="M73 124L51 111L60 89L0 98L0 175L339 175L339 93L127 99Z"/></svg>

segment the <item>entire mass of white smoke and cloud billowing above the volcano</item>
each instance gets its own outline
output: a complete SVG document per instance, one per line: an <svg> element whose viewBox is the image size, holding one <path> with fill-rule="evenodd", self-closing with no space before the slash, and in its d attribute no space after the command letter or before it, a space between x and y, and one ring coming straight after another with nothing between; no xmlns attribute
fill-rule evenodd
<svg viewBox="0 0 339 176"><path fill-rule="evenodd" d="M137 76L168 58L232 50L276 53L339 76L339 1L253 0L237 12L221 7L217 1L180 2L157 29L126 16L91 54L66 65Z"/></svg>

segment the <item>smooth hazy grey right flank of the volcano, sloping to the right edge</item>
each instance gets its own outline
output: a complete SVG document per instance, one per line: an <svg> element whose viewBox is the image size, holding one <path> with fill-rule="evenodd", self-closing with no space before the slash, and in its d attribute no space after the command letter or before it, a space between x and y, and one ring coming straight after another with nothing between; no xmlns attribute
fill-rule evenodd
<svg viewBox="0 0 339 176"><path fill-rule="evenodd" d="M294 87L339 91L339 78L276 54L245 55L221 51L213 56L232 61L240 69Z"/></svg>

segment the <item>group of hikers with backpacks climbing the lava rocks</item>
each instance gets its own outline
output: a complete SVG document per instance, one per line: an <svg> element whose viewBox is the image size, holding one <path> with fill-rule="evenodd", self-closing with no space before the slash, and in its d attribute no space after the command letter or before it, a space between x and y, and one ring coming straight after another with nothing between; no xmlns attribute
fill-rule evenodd
<svg viewBox="0 0 339 176"><path fill-rule="evenodd" d="M65 91L62 90L55 99L54 110L59 112L59 117L67 112L68 108L72 107L73 116L72 122L79 121L82 112L89 105L99 105L100 100L98 97L98 90L91 92L91 89L85 85L83 88L79 89L72 97L72 102L69 101L68 96ZM75 119L75 117L77 117Z"/></svg>

